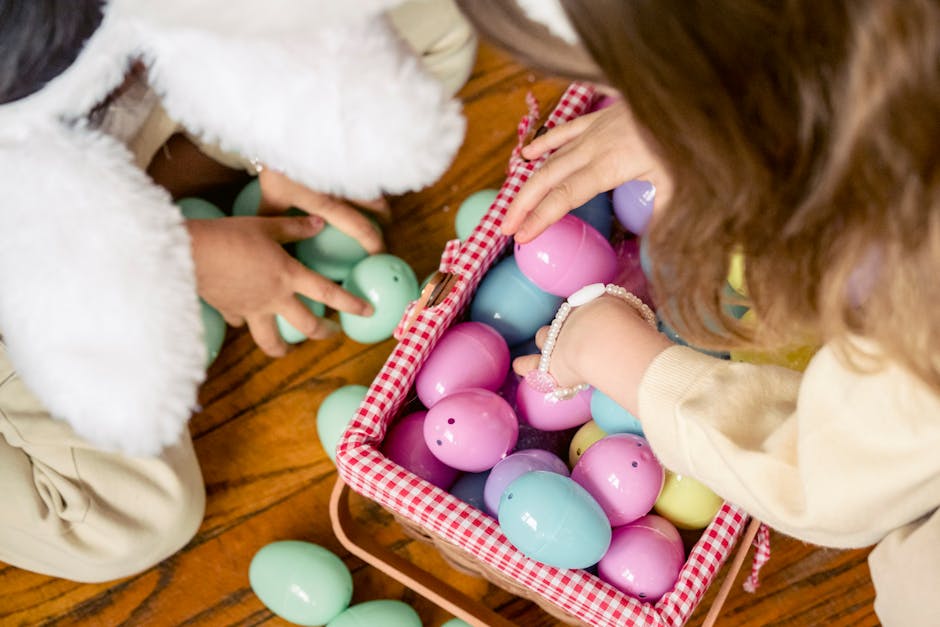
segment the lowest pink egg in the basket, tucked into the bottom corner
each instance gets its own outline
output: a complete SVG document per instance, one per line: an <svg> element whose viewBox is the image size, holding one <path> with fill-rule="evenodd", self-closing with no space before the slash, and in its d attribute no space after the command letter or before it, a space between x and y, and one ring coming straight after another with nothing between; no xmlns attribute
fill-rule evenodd
<svg viewBox="0 0 940 627"><path fill-rule="evenodd" d="M655 603L676 585L684 562L679 532L667 520L650 515L614 529L597 574L622 592Z"/></svg>

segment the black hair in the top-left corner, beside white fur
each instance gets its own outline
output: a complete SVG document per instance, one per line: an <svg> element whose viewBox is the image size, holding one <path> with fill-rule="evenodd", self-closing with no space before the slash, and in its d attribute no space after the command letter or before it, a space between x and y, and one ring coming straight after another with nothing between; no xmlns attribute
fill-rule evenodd
<svg viewBox="0 0 940 627"><path fill-rule="evenodd" d="M102 0L0 0L0 104L42 89L101 24Z"/></svg>

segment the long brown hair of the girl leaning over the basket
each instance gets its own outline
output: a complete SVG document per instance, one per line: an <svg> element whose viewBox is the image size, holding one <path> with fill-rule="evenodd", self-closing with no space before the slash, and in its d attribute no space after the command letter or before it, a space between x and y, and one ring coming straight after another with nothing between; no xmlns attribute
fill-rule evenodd
<svg viewBox="0 0 940 627"><path fill-rule="evenodd" d="M489 4L462 6L482 27ZM756 341L727 311L740 250L761 343L812 334L861 366L865 337L940 390L938 3L562 4L672 177L648 244L680 334Z"/></svg>

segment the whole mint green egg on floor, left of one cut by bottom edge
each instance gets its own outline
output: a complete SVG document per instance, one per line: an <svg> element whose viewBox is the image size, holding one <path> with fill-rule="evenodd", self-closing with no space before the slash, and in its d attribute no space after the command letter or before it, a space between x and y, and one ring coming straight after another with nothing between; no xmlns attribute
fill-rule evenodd
<svg viewBox="0 0 940 627"><path fill-rule="evenodd" d="M310 542L262 547L251 560L248 580L268 609L298 625L325 625L352 599L352 575L343 560Z"/></svg>

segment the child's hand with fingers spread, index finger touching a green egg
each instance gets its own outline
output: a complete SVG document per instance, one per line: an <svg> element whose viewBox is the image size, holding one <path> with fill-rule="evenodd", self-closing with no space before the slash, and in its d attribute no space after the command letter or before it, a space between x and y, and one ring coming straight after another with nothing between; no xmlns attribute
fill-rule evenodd
<svg viewBox="0 0 940 627"><path fill-rule="evenodd" d="M306 268L281 247L316 235L323 224L317 216L189 220L200 296L229 324L247 323L258 347L272 357L287 352L276 314L311 339L338 331L335 322L314 316L296 294L340 311L371 315L371 305Z"/></svg>

